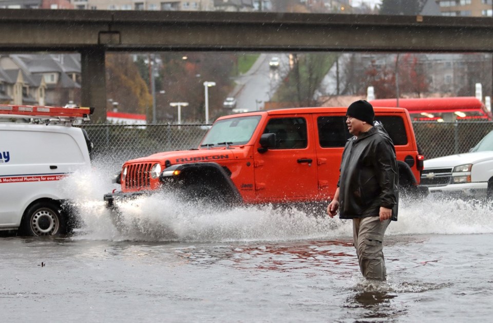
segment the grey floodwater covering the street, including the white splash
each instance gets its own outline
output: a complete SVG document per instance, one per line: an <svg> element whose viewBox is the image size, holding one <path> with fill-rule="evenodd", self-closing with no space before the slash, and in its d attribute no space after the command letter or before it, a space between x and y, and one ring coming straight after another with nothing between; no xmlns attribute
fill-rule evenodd
<svg viewBox="0 0 493 323"><path fill-rule="evenodd" d="M351 223L303 210L203 210L172 195L109 220L105 174L63 185L84 220L66 238L0 238L3 322L464 322L493 314L493 208L402 201L387 282L361 278ZM137 206L138 205L138 206Z"/></svg>

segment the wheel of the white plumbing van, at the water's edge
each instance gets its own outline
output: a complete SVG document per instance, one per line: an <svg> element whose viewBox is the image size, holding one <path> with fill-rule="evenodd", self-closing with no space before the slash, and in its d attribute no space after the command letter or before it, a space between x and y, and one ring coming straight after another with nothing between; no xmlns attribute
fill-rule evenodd
<svg viewBox="0 0 493 323"><path fill-rule="evenodd" d="M28 236L56 236L66 233L66 219L60 205L54 202L36 202L24 213L21 232Z"/></svg>

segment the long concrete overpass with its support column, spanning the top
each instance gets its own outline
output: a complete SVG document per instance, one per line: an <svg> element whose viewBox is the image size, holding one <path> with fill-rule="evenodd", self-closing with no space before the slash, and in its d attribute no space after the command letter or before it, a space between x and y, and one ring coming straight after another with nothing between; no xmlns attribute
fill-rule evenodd
<svg viewBox="0 0 493 323"><path fill-rule="evenodd" d="M491 17L0 9L0 35L2 52L80 52L94 107L106 106L107 51L493 52Z"/></svg>

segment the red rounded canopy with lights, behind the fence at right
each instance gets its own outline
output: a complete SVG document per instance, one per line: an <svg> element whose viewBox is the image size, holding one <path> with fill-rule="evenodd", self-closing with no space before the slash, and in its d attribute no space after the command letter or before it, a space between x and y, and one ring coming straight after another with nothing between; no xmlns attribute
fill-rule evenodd
<svg viewBox="0 0 493 323"><path fill-rule="evenodd" d="M374 107L402 107L411 115L412 121L491 121L486 106L475 97L377 99L369 101Z"/></svg>

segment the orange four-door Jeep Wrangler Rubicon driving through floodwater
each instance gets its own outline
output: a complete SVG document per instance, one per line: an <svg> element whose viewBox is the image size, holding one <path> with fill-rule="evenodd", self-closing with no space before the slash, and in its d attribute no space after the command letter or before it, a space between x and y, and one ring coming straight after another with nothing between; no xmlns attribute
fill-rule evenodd
<svg viewBox="0 0 493 323"><path fill-rule="evenodd" d="M198 148L166 151L124 163L121 192L106 205L160 189L188 197L245 204L322 202L333 197L344 145L351 135L345 107L254 111L217 119ZM409 113L374 108L392 138L403 191L427 193L418 185L418 153Z"/></svg>

